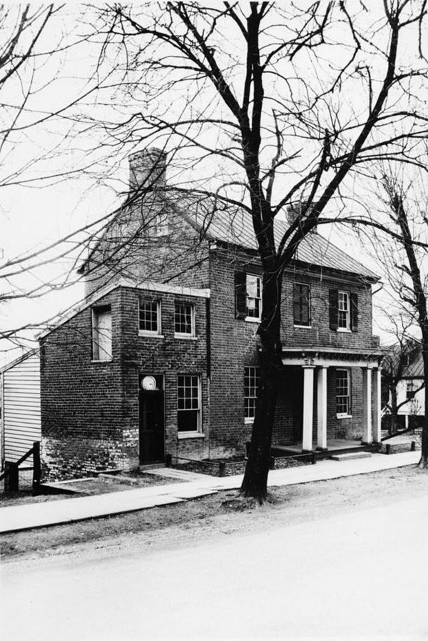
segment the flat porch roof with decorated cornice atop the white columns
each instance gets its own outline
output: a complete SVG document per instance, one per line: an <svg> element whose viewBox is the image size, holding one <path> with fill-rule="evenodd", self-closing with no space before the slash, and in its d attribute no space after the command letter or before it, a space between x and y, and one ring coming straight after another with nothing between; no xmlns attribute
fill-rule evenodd
<svg viewBox="0 0 428 641"><path fill-rule="evenodd" d="M282 347L282 364L313 365L323 367L379 367L382 352L371 347Z"/></svg>

